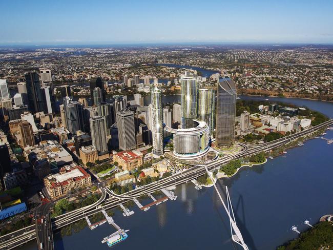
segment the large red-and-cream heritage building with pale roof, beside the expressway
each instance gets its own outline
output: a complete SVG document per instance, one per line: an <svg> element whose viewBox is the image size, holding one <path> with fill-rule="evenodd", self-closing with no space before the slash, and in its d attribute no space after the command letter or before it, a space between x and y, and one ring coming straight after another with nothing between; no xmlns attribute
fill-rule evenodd
<svg viewBox="0 0 333 250"><path fill-rule="evenodd" d="M91 185L91 176L80 166L63 166L58 174L44 178L44 184L52 198L67 194L77 188Z"/></svg>

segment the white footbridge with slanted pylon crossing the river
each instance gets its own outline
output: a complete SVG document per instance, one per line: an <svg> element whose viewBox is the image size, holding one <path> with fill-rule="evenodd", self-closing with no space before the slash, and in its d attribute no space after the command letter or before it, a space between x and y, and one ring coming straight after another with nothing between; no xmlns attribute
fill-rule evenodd
<svg viewBox="0 0 333 250"><path fill-rule="evenodd" d="M227 204L228 204L228 207L226 207L221 195L220 195L220 192L218 191L217 189L217 186L215 185L215 182L214 182L214 179L213 177L211 176L212 173L209 172L207 170L207 167L205 166L205 169L206 169L206 172L207 172L207 175L211 178L212 182L213 182L213 185L214 185L214 188L222 202L222 205L225 209L225 212L226 214L228 215L229 217L229 220L230 220L230 231L231 231L231 238L234 242L236 242L237 244L239 244L240 246L243 247L244 250L249 250L247 245L245 244L244 242L244 239L243 239L243 236L236 224L236 220L235 220L235 215L234 215L234 210L233 210L233 206L231 204L231 199L230 199L230 195L229 195L229 191L228 191L228 187L225 186L225 191L226 191L226 201L227 201ZM230 213L231 212L231 213ZM234 234L235 233L235 234Z"/></svg>

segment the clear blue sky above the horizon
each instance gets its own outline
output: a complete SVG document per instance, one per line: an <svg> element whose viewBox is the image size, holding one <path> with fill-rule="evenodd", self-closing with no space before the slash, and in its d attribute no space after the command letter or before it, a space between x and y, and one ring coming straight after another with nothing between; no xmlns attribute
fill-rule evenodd
<svg viewBox="0 0 333 250"><path fill-rule="evenodd" d="M332 0L2 0L0 44L333 44Z"/></svg>

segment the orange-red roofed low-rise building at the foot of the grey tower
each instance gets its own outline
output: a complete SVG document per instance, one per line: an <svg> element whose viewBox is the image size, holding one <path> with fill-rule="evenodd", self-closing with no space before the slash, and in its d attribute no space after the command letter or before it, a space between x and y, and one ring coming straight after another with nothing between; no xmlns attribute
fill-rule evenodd
<svg viewBox="0 0 333 250"><path fill-rule="evenodd" d="M117 161L124 170L131 171L142 165L143 154L137 151L121 151L114 155L113 160Z"/></svg>

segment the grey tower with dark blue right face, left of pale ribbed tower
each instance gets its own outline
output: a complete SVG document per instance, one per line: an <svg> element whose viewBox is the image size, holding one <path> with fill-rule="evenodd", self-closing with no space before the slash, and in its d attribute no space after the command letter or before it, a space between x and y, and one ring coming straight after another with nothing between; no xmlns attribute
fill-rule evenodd
<svg viewBox="0 0 333 250"><path fill-rule="evenodd" d="M69 97L64 98L66 128L72 135L78 130L84 130L83 107L80 102L72 101Z"/></svg>

